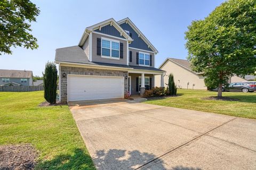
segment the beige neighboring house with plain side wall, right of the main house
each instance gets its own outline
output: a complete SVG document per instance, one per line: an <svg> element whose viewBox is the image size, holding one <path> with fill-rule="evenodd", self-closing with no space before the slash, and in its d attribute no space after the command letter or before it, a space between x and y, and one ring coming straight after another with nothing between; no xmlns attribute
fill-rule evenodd
<svg viewBox="0 0 256 170"><path fill-rule="evenodd" d="M187 60L181 60L178 58L166 58L166 60L159 66L159 69L166 71L163 77L164 86L167 87L165 83L168 83L168 75L173 73L174 82L178 88L181 89L202 89L206 90L207 87L204 84L204 77L202 73L196 73L192 71L191 64ZM161 84L159 82L161 80L161 76L155 76L155 84L157 87L160 87ZM239 82L239 81L247 81L241 77L230 78L231 82Z"/></svg>

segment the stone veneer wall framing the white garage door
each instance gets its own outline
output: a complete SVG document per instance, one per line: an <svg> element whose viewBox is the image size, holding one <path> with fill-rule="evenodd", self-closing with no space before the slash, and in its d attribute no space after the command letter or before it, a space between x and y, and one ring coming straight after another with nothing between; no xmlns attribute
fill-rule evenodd
<svg viewBox="0 0 256 170"><path fill-rule="evenodd" d="M66 77L63 78L62 74L66 73ZM125 79L128 76L127 71L118 71L118 70L102 70L102 69L88 69L84 67L69 67L61 66L60 68L60 77L61 77L61 103L67 103L67 85L68 85L68 74L76 75L101 75L101 76L116 76L124 77L124 93L128 91L128 79ZM125 96L124 94L124 96Z"/></svg>

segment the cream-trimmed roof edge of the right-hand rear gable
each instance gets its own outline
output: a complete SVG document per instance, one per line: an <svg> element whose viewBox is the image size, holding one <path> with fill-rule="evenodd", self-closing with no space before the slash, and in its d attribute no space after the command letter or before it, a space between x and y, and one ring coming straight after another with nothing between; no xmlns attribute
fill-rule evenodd
<svg viewBox="0 0 256 170"><path fill-rule="evenodd" d="M129 18L120 20L117 23L118 24L122 24L122 23L129 24L132 27L132 29L138 33L138 35L141 37L141 39L143 41L145 41L145 43L148 45L148 47L151 48L154 51L154 53L158 53L158 50L150 43L150 41L143 35L143 33L136 27L136 25Z"/></svg>

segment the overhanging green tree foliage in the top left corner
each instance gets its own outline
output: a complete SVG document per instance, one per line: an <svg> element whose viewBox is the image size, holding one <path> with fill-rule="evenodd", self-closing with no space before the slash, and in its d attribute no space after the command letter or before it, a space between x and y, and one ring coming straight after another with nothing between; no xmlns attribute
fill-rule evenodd
<svg viewBox="0 0 256 170"><path fill-rule="evenodd" d="M0 1L0 55L12 54L11 47L38 47L29 23L36 21L39 12L29 0Z"/></svg>

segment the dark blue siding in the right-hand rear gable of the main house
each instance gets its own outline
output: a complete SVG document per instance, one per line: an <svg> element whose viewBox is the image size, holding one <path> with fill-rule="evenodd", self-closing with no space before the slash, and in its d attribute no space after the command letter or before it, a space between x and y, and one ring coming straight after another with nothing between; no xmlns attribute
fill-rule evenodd
<svg viewBox="0 0 256 170"><path fill-rule="evenodd" d="M145 43L145 41L143 41L138 36L138 33L136 33L128 23L122 23L120 26L124 30L129 31L130 33L132 33L133 41L132 41L131 44L129 44L129 47L144 49L144 50L148 50L150 52L153 52L153 50L151 48L148 48L148 45Z"/></svg>

